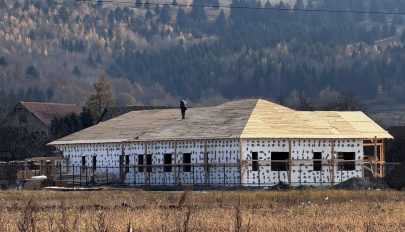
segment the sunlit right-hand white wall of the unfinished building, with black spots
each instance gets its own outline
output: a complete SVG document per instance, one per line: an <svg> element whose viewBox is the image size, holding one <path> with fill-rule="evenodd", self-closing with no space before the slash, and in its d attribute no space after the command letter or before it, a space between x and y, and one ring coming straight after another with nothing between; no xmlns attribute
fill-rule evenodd
<svg viewBox="0 0 405 232"><path fill-rule="evenodd" d="M242 141L242 159L249 164L242 168L242 183L245 185L273 185L279 181L288 183L288 171L272 171L271 153L289 152L287 139L250 139ZM258 152L259 171L252 171L250 161L252 152ZM322 171L314 171L313 154L321 152ZM334 165L334 182L342 182L351 177L363 176L363 141L360 139L335 140L334 155L338 152L355 152L355 170L338 170ZM291 184L292 185L329 185L332 182L332 141L328 139L291 140Z"/></svg>

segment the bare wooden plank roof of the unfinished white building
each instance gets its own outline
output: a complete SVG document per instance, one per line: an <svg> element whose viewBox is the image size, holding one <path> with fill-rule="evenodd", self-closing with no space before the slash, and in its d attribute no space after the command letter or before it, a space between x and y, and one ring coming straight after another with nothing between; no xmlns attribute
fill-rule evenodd
<svg viewBox="0 0 405 232"><path fill-rule="evenodd" d="M50 143L211 138L392 138L362 112L295 111L261 99L215 107L132 111Z"/></svg>

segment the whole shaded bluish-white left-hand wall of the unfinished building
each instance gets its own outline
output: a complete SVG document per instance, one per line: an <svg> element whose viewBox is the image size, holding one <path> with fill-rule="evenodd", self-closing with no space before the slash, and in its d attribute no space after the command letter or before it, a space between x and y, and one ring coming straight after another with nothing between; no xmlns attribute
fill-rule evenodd
<svg viewBox="0 0 405 232"><path fill-rule="evenodd" d="M121 152L121 146L123 152ZM61 145L59 149L69 158L70 172L80 173L82 156L86 165L92 167L93 156L97 157L96 174L107 173L110 178L119 179L120 155L129 158L129 170L125 171L124 182L129 185L238 185L240 182L239 140L192 140L192 141L151 141L106 144ZM208 168L204 166L204 153L207 152ZM164 154L172 154L172 164L183 164L183 154L191 154L191 170L185 172L182 166L172 167L172 172L164 172ZM139 155L152 155L152 172L138 170ZM217 164L217 165L211 165ZM108 168L107 168L108 166ZM176 176L178 177L176 178Z"/></svg>

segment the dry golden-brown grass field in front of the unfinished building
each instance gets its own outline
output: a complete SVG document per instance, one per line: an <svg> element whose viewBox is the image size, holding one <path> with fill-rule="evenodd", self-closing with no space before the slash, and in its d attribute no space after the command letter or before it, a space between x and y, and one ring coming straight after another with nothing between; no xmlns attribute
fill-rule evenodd
<svg viewBox="0 0 405 232"><path fill-rule="evenodd" d="M405 231L405 192L1 191L0 231Z"/></svg>

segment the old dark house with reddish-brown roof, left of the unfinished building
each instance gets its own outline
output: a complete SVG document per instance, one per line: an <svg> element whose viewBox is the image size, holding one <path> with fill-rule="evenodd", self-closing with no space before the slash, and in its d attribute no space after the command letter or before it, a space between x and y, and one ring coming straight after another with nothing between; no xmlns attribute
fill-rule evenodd
<svg viewBox="0 0 405 232"><path fill-rule="evenodd" d="M80 112L74 104L19 102L0 121L0 159L48 155L52 120Z"/></svg>

